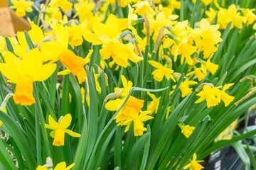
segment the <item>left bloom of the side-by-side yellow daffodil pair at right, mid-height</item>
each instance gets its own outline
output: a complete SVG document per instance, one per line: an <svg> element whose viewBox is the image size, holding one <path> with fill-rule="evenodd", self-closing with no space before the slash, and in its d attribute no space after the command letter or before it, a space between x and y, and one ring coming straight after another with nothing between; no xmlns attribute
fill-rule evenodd
<svg viewBox="0 0 256 170"><path fill-rule="evenodd" d="M220 87L203 86L203 90L196 94L200 98L195 103L206 100L207 107L217 106L220 103Z"/></svg>

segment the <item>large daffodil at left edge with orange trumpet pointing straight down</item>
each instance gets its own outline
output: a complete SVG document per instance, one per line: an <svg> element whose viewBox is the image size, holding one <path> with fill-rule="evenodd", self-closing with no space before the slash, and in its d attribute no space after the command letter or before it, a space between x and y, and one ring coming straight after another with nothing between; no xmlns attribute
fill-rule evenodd
<svg viewBox="0 0 256 170"><path fill-rule="evenodd" d="M56 69L56 64L43 64L38 49L28 51L20 60L11 52L6 52L6 63L0 64L0 71L10 82L16 83L14 102L21 105L35 103L33 81L44 81Z"/></svg>

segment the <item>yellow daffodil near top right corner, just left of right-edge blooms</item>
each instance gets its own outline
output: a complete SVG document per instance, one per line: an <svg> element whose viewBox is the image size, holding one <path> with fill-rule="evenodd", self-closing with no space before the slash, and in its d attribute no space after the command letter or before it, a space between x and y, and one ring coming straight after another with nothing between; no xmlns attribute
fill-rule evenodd
<svg viewBox="0 0 256 170"><path fill-rule="evenodd" d="M230 29L234 28L234 26L241 29L244 19L245 17L240 16L240 13L237 12L235 4L232 4L228 7L228 9L220 8L217 23L220 24L221 29L225 29L228 26L228 23L232 21Z"/></svg>

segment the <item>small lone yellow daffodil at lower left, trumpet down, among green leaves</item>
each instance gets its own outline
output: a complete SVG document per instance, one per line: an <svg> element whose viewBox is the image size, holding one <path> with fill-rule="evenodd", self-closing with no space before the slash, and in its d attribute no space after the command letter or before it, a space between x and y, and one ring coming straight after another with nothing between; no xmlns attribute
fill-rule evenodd
<svg viewBox="0 0 256 170"><path fill-rule="evenodd" d="M68 126L70 126L72 117L70 114L65 115L64 117L60 117L58 120L58 123L55 122L53 117L49 115L49 125L46 125L46 128L53 130L50 132L50 136L54 138L53 145L54 146L64 146L64 139L65 139L65 133L68 133L68 135L73 137L80 137L81 135L73 132L71 130L68 130Z"/></svg>

